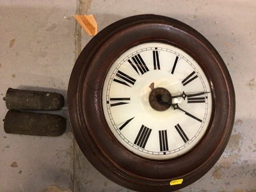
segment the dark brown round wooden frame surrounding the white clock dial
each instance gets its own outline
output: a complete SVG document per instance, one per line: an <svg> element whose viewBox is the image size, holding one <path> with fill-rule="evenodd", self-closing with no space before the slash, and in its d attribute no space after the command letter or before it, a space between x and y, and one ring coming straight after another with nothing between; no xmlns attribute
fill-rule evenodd
<svg viewBox="0 0 256 192"><path fill-rule="evenodd" d="M212 84L211 127L191 152L170 161L144 159L127 150L113 136L102 111L102 84L109 66L120 53L148 40L168 41L187 52ZM103 175L134 190L171 191L195 182L218 161L232 132L234 98L225 63L200 33L168 17L138 15L103 29L81 52L68 85L68 115L79 147ZM181 178L182 184L170 186L171 180Z"/></svg>

